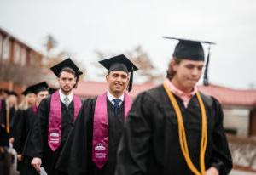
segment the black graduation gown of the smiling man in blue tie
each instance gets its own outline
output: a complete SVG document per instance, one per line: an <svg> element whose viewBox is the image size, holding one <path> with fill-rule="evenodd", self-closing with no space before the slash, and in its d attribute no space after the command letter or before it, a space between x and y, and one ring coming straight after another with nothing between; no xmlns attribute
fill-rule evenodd
<svg viewBox="0 0 256 175"><path fill-rule="evenodd" d="M67 143L62 150L56 169L69 175L113 175L116 166L116 152L124 129L124 103L118 115L108 100L108 161L98 169L92 161L93 119L96 99L87 99L73 125Z"/></svg>

